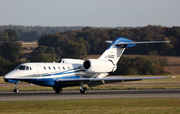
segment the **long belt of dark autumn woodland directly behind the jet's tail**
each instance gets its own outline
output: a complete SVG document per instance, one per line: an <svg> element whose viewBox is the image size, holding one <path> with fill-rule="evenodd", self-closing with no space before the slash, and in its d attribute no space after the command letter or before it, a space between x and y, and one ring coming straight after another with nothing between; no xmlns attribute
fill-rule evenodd
<svg viewBox="0 0 180 114"><path fill-rule="evenodd" d="M115 40L117 37L126 37L133 41L171 41L163 44L141 44L125 51L125 54L140 55L180 55L180 27L146 26L133 29L91 29L85 27L82 30L64 31L56 34L45 34L38 40L39 46L53 47L57 57L82 58L88 55L102 54L109 44L105 40ZM79 43L78 43L79 42ZM72 45L76 43L76 45ZM82 48L79 48L81 45ZM79 47L78 47L79 46ZM71 48L81 54L75 56ZM78 48L78 50L75 50ZM73 51L73 52L74 52ZM82 52L82 53L80 53Z"/></svg>

